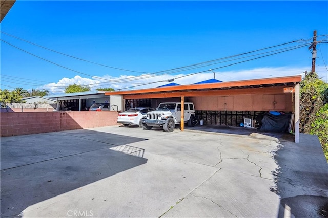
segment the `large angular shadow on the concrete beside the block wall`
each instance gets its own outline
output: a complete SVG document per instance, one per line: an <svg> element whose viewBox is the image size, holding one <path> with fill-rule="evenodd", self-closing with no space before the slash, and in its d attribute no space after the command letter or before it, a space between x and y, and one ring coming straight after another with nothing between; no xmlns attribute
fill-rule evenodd
<svg viewBox="0 0 328 218"><path fill-rule="evenodd" d="M2 137L1 217L147 163L129 145L143 140L86 129Z"/></svg>

